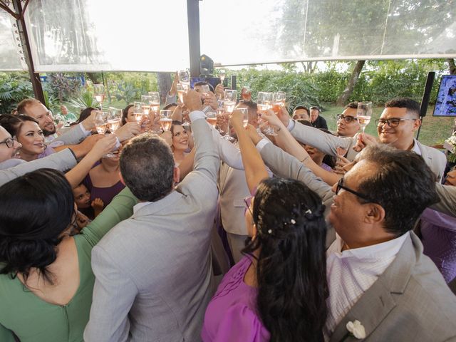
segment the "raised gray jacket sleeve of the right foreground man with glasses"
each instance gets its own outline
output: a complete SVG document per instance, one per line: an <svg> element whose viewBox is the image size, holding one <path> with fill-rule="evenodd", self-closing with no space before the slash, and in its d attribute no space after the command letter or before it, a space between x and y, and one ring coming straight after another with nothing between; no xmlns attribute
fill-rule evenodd
<svg viewBox="0 0 456 342"><path fill-rule="evenodd" d="M269 166L274 175L300 180L307 185L310 190L316 192L317 195L321 197L323 204L326 206L325 216L328 217L334 197L334 192L331 190L331 186L326 184L326 182L323 182L321 178L316 177L314 172L304 166L302 162L297 160L292 155L289 155L289 153L277 147L272 142L264 145L260 153L264 162ZM336 239L336 232L328 220L326 220L326 224L328 227L328 232L326 233L327 248L331 246L333 241Z"/></svg>

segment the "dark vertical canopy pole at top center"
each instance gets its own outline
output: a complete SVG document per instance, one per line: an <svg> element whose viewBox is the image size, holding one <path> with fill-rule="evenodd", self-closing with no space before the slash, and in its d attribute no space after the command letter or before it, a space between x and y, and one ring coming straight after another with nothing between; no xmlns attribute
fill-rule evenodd
<svg viewBox="0 0 456 342"><path fill-rule="evenodd" d="M199 77L199 0L187 0L188 45L190 51L190 76Z"/></svg>

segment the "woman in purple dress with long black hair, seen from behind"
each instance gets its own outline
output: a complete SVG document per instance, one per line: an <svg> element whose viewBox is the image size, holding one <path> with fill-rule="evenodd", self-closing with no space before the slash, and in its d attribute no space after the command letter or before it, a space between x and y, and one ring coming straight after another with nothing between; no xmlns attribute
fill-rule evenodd
<svg viewBox="0 0 456 342"><path fill-rule="evenodd" d="M326 321L324 205L298 180L268 178L234 110L247 185L245 222L251 239L207 306L202 340L323 341ZM254 130L253 126L247 129Z"/></svg>

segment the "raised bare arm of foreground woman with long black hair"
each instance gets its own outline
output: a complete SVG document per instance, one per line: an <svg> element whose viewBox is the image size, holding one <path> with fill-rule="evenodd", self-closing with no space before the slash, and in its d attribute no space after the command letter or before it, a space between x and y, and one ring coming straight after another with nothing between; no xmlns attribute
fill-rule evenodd
<svg viewBox="0 0 456 342"><path fill-rule="evenodd" d="M234 110L231 123L237 133L237 140L239 142L239 150L241 150L247 186L249 187L250 193L253 193L259 182L268 178L269 175L266 171L266 165L264 165L264 162L261 159L261 155L250 139L249 133L247 133L244 129L242 120L242 113L239 110Z"/></svg>

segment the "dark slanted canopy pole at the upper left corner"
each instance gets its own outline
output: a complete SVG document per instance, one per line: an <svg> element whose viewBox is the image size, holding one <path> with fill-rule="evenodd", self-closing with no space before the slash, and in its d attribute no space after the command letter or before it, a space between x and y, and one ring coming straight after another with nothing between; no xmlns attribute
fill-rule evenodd
<svg viewBox="0 0 456 342"><path fill-rule="evenodd" d="M33 66L33 58L31 55L30 41L28 41L28 33L26 28L26 21L24 19L24 12L28 1L26 1L26 6L22 9L21 0L12 0L14 4L14 10L19 14L19 18L16 18L17 25L19 28L19 36L21 37L22 50L24 51L24 57L26 58L26 63L28 66L28 75L30 76L31 85L33 86L33 93L35 94L36 100L45 104L43 87L41 87L41 80L39 73L35 72L35 67Z"/></svg>

